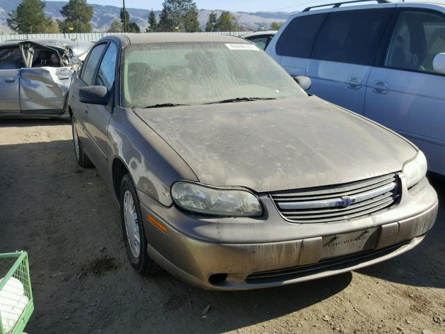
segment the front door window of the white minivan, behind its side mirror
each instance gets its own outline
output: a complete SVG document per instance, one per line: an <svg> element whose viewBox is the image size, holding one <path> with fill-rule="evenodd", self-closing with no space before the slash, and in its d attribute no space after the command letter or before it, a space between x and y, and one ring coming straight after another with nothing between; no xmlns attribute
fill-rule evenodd
<svg viewBox="0 0 445 334"><path fill-rule="evenodd" d="M406 10L398 15L385 66L434 73L432 61L442 52L445 52L444 17Z"/></svg>

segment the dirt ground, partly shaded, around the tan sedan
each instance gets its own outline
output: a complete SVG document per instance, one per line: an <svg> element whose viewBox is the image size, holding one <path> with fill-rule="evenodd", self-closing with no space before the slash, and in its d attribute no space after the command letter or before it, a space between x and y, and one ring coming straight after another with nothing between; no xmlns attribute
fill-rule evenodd
<svg viewBox="0 0 445 334"><path fill-rule="evenodd" d="M29 252L30 334L445 333L445 182L432 183L442 207L409 253L310 283L210 292L133 272L118 206L94 168L76 165L68 123L1 120L0 253Z"/></svg>

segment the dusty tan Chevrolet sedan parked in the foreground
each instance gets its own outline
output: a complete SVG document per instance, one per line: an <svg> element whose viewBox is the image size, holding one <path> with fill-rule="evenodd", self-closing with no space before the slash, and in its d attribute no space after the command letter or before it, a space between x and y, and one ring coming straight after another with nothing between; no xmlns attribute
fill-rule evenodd
<svg viewBox="0 0 445 334"><path fill-rule="evenodd" d="M120 204L136 271L207 289L286 285L375 264L432 228L426 159L309 96L241 38L107 36L68 100L76 160Z"/></svg>

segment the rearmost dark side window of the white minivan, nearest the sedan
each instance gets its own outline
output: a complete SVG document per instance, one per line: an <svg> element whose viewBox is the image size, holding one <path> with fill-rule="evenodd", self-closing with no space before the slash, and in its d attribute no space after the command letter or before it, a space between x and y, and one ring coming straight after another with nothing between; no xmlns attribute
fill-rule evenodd
<svg viewBox="0 0 445 334"><path fill-rule="evenodd" d="M309 58L326 17L327 14L305 15L289 22L277 40L277 55Z"/></svg>

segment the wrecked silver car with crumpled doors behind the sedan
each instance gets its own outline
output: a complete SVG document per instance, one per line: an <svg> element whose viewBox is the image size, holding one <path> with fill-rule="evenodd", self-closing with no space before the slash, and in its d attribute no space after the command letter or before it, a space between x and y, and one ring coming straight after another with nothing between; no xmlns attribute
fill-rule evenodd
<svg viewBox="0 0 445 334"><path fill-rule="evenodd" d="M0 43L0 117L69 118L67 93L90 42Z"/></svg>

